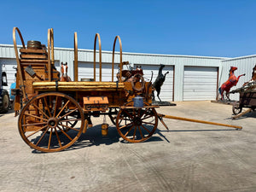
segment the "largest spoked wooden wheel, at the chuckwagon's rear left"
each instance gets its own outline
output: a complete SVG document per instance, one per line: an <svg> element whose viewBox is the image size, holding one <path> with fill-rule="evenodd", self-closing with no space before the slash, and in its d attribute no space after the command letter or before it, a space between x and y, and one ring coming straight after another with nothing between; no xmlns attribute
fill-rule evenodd
<svg viewBox="0 0 256 192"><path fill-rule="evenodd" d="M20 136L30 147L43 152L61 151L81 135L84 113L71 96L43 93L22 108L18 125Z"/></svg>

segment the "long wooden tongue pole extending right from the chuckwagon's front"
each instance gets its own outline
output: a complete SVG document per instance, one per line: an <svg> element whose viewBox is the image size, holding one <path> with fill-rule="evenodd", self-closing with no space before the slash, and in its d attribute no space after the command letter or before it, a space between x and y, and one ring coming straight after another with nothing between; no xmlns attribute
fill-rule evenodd
<svg viewBox="0 0 256 192"><path fill-rule="evenodd" d="M161 114L161 113L157 113L158 118L160 119L161 123L166 127L167 130L168 127L166 126L166 124L163 121L163 118L167 118L167 119L177 119L177 120L185 120L185 121L191 121L191 122L195 122L195 123L201 123L201 124L210 124L210 125L219 125L219 126L228 126L228 127L234 127L236 128L236 130L238 129L242 129L241 126L237 126L237 125L227 125L227 124L220 124L220 123L215 123L215 122L211 122L211 121L206 121L206 120L198 120L198 119L188 119L188 118L183 118L183 117L177 117L177 116L172 116L172 115L166 115L166 114Z"/></svg>

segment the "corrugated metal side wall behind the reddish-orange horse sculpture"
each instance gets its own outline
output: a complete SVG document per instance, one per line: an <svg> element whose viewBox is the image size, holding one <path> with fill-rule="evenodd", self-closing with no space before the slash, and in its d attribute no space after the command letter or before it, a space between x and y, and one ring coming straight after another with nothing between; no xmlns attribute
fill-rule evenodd
<svg viewBox="0 0 256 192"><path fill-rule="evenodd" d="M241 87L242 84L244 84L244 82L247 82L248 80L252 79L253 67L256 64L256 55L237 57L234 59L221 61L221 63L222 73L220 74L219 86L221 86L221 84L223 84L226 80L229 79L229 72L231 66L237 67L237 70L235 71L236 77L238 75L246 73L246 76L241 77L236 86L231 88L231 90L236 90L237 88ZM238 101L239 93L230 94L230 99Z"/></svg>

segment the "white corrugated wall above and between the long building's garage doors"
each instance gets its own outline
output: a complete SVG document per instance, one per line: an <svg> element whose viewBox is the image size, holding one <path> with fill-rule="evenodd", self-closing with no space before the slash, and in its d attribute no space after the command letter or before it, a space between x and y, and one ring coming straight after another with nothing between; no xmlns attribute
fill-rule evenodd
<svg viewBox="0 0 256 192"><path fill-rule="evenodd" d="M0 58L14 59L15 52L13 45L0 44ZM55 60L59 63L67 62L69 64L68 73L73 79L73 49L55 48ZM98 58L98 55L96 55ZM190 55L154 55L123 53L123 61L129 61L134 65L159 65L174 67L174 101L183 101L183 71L184 66L195 67L221 67L221 61L226 58L190 56ZM97 59L98 60L98 59ZM93 50L79 49L79 61L93 62ZM102 62L112 62L112 51L102 51ZM119 62L119 53L115 54L115 62ZM166 76L168 77L168 76Z"/></svg>

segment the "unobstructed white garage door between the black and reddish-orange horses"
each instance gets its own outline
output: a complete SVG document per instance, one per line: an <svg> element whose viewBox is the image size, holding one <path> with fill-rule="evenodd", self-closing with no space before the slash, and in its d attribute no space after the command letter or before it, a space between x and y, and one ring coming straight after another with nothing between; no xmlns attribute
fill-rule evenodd
<svg viewBox="0 0 256 192"><path fill-rule="evenodd" d="M215 100L218 67L185 67L183 101Z"/></svg>

